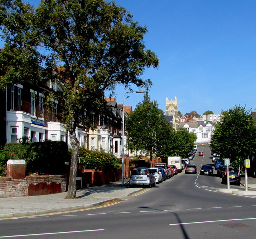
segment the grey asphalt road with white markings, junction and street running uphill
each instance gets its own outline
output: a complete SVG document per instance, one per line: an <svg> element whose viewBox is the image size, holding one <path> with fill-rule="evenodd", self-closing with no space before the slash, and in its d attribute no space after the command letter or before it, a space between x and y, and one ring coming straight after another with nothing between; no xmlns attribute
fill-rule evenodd
<svg viewBox="0 0 256 239"><path fill-rule="evenodd" d="M192 161L197 174L183 171L108 207L2 220L0 238L255 238L256 197L216 192L226 185L216 171L199 175L200 166L212 159L208 146L198 151L204 156Z"/></svg>

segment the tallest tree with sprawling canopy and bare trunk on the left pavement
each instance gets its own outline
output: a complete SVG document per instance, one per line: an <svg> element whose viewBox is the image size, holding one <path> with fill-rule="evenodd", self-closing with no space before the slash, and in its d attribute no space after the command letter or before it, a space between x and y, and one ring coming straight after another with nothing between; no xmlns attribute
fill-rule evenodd
<svg viewBox="0 0 256 239"><path fill-rule="evenodd" d="M114 2L42 0L36 9L21 0L0 2L5 54L11 55L16 49L20 51L18 56L23 54L15 64L14 60L1 56L6 69L1 82L13 83L6 78L9 67L13 75L16 69L22 74L18 68L23 57L44 67L40 78L34 80L46 79L50 86L56 86L47 88L45 96L49 102L58 100L63 112L73 152L66 198L75 198L79 147L76 128L81 124L92 126L90 113L104 110L105 90L114 93L116 84L130 90L132 85L148 87L151 82L143 80L142 73L150 66L156 68L158 58L144 46L146 27L134 22ZM12 18L17 19L12 21ZM28 37L26 29L29 29ZM33 67L32 72L36 76L38 67ZM31 80L35 77L28 76Z"/></svg>

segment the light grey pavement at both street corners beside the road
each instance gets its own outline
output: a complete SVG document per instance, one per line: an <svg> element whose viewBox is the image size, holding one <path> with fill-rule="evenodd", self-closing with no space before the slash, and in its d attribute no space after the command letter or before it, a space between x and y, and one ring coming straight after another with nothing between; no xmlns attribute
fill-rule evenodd
<svg viewBox="0 0 256 239"><path fill-rule="evenodd" d="M256 195L256 178L248 177L248 191L245 191L245 178L241 178L241 189L216 189L216 191L240 195ZM232 187L232 185L231 185ZM142 190L142 187L129 187L128 179L108 185L86 187L76 191L76 199L65 199L66 192L28 197L0 198L0 219L60 213L76 209L86 209L108 204L117 199Z"/></svg>

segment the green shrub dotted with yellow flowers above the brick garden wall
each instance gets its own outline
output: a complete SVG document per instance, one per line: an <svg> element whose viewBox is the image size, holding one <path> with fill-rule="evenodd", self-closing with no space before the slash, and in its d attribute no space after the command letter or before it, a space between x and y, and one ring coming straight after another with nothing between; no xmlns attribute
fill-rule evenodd
<svg viewBox="0 0 256 239"><path fill-rule="evenodd" d="M91 151L80 147L78 156L84 159L84 169L107 170L120 167L120 159L110 153Z"/></svg>

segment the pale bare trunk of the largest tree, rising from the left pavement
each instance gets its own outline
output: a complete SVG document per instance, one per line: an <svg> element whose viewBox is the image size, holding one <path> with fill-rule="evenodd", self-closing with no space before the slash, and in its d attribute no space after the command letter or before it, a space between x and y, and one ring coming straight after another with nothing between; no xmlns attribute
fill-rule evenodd
<svg viewBox="0 0 256 239"><path fill-rule="evenodd" d="M76 138L76 132L69 132L70 143L72 147L72 158L70 165L70 175L69 175L69 183L68 183L68 193L66 195L66 199L74 199L76 198L76 171L77 171L77 160L78 160L78 148L79 141Z"/></svg>

